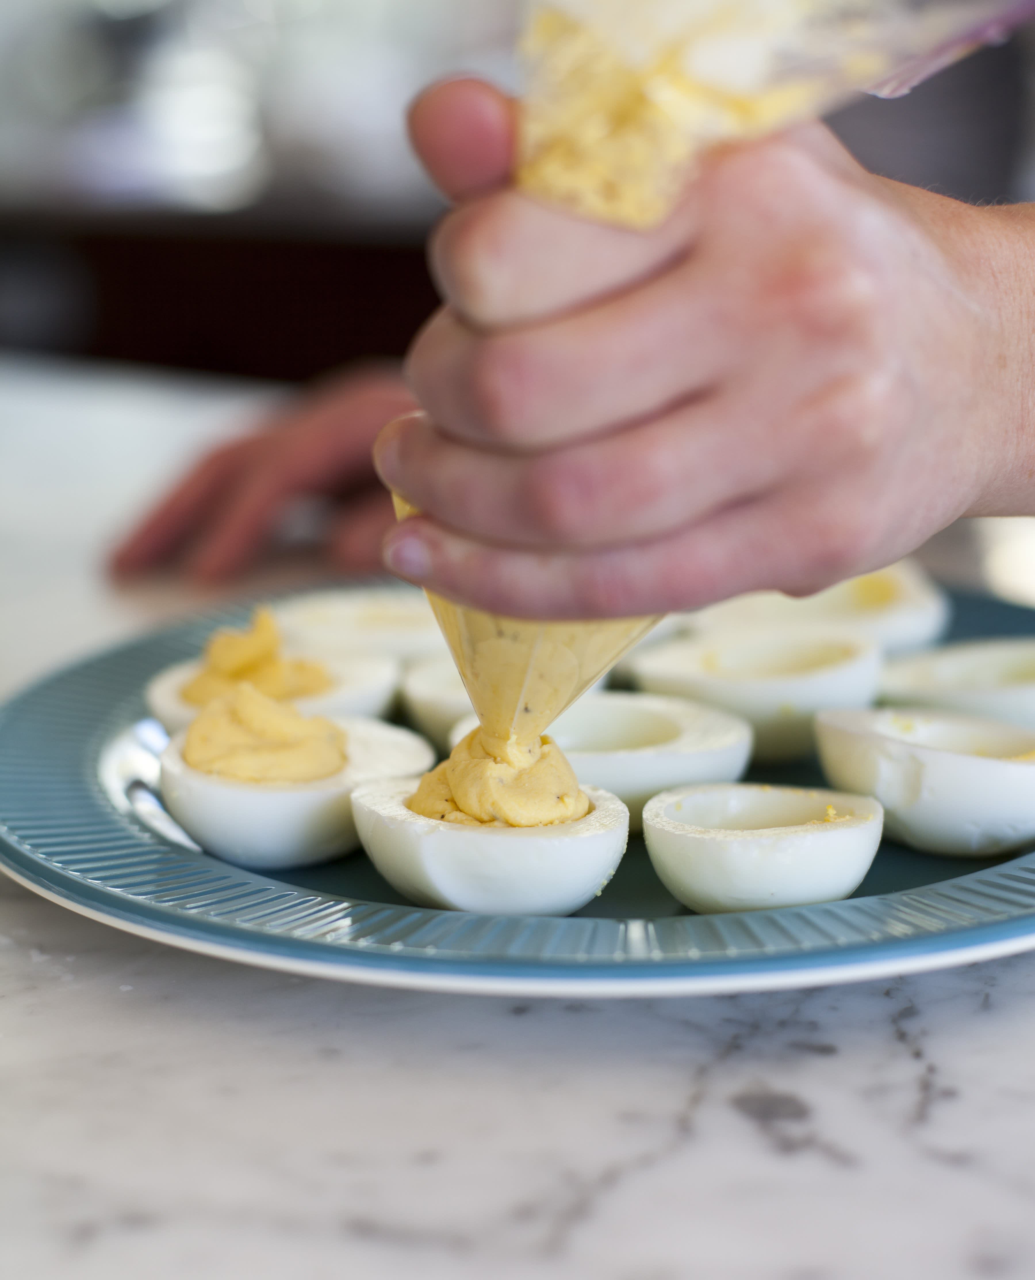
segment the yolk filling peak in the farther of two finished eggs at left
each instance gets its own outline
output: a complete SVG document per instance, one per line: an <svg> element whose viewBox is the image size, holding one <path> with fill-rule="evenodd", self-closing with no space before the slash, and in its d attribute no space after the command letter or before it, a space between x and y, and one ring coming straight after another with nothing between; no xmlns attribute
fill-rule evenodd
<svg viewBox="0 0 1035 1280"><path fill-rule="evenodd" d="M255 611L247 631L216 631L205 646L205 667L179 695L191 707L207 707L244 681L278 701L312 698L334 685L319 662L280 657L280 632L267 608Z"/></svg>

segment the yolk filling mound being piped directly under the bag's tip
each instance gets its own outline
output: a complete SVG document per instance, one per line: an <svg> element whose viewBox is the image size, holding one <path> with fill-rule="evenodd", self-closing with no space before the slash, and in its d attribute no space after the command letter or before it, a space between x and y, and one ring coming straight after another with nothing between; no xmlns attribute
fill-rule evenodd
<svg viewBox="0 0 1035 1280"><path fill-rule="evenodd" d="M476 728L421 778L407 808L467 827L554 827L585 818L590 800L551 739L503 740Z"/></svg>

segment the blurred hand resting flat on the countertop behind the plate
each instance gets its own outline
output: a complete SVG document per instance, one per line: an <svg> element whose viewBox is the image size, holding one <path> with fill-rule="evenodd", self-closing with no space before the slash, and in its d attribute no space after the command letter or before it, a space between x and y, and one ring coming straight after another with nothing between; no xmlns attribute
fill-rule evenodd
<svg viewBox="0 0 1035 1280"><path fill-rule="evenodd" d="M412 408L394 370L328 381L257 433L203 457L116 549L113 571L139 573L189 548L191 577L232 577L260 557L285 506L304 495L338 499L326 535L334 563L379 570L395 518L370 451L385 422Z"/></svg>

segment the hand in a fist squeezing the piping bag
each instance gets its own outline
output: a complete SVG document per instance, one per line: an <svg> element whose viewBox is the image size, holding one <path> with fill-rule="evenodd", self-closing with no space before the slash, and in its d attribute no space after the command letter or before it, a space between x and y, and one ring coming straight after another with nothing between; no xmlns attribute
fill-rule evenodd
<svg viewBox="0 0 1035 1280"><path fill-rule="evenodd" d="M423 512L386 539L400 576L510 614L650 614L807 594L957 516L1035 509L1030 218L876 179L810 125L714 155L638 234L509 188L485 86L430 91L412 132L461 205L408 365L426 415L375 451Z"/></svg>

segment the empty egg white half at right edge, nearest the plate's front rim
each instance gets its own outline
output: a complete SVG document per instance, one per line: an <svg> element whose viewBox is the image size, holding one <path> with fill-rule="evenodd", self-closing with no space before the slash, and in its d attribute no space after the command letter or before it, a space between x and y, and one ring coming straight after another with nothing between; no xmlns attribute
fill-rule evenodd
<svg viewBox="0 0 1035 1280"><path fill-rule="evenodd" d="M888 835L933 854L990 856L1035 840L1035 733L929 709L821 712L828 781L876 796Z"/></svg>

